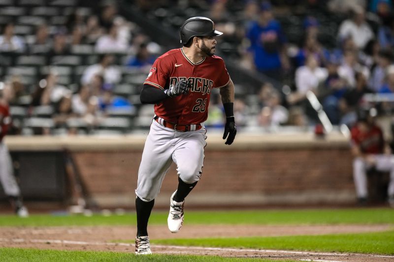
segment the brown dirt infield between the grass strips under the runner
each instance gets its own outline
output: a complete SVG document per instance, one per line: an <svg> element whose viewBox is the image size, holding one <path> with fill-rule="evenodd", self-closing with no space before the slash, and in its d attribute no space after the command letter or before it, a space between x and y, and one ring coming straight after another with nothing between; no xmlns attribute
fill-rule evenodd
<svg viewBox="0 0 394 262"><path fill-rule="evenodd" d="M152 239L192 237L236 237L236 236L279 236L316 235L328 233L363 233L390 230L390 225L314 225L314 226L239 226L239 225L190 225L179 233L168 232L166 226L151 226ZM133 252L133 227L7 227L0 228L0 247L20 247L58 250L92 250ZM114 243L119 240L120 243ZM124 240L124 241L122 241ZM152 245L156 254L218 255L224 257L259 257L269 259L294 259L300 261L327 262L391 262L394 256L374 256L326 252L297 252L285 250L203 248Z"/></svg>

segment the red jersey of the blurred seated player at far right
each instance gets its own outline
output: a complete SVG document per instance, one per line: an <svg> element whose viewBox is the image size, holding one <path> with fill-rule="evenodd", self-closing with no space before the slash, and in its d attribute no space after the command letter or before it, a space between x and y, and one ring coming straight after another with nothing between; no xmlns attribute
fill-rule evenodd
<svg viewBox="0 0 394 262"><path fill-rule="evenodd" d="M356 126L352 128L352 143L360 146L362 153L382 154L384 148L383 132L378 126L372 126L368 132L361 132Z"/></svg>

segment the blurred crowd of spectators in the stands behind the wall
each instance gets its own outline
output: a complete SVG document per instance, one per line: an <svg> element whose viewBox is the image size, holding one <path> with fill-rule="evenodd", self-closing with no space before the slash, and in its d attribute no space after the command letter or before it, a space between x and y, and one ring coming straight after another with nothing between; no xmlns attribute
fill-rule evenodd
<svg viewBox="0 0 394 262"><path fill-rule="evenodd" d="M155 58L179 48L192 16L211 18L235 84L240 131L352 126L361 107L391 124L392 0L0 0L0 88L11 134L146 132L152 105L139 92ZM222 128L212 93L208 128Z"/></svg>

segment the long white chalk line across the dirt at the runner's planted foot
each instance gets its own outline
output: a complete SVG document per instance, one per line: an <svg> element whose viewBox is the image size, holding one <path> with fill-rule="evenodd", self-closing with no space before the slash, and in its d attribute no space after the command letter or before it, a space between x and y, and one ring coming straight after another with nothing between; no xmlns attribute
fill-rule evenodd
<svg viewBox="0 0 394 262"><path fill-rule="evenodd" d="M48 243L48 244L70 244L70 245L95 245L95 246L129 246L134 244L122 242L97 242L97 241L75 241L75 240L61 240L61 239L24 239L24 238L0 238L0 242L15 242L15 243ZM359 257L376 257L376 258L394 258L394 256L385 255L371 255L371 254L345 254L345 253L319 253L319 252L304 252L304 251L289 251L289 250L273 250L273 249L237 249L237 248L221 248L221 247L198 247L198 246L173 246L173 245L152 245L157 248L172 248L172 249L197 249L197 250L211 250L211 251L226 251L226 252L255 252L255 253L282 253L292 255L308 255L308 256L359 256ZM301 260L301 261L317 261L317 260ZM321 261L323 262L323 261Z"/></svg>

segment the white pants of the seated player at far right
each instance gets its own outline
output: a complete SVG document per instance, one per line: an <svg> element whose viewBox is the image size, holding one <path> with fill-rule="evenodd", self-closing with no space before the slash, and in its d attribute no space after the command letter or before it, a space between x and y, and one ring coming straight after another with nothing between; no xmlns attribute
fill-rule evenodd
<svg viewBox="0 0 394 262"><path fill-rule="evenodd" d="M376 162L376 170L390 172L390 183L387 193L389 196L394 196L394 155L379 154L373 155L373 157ZM371 167L362 157L357 157L353 160L353 178L358 198L366 198L368 196L366 171Z"/></svg>

